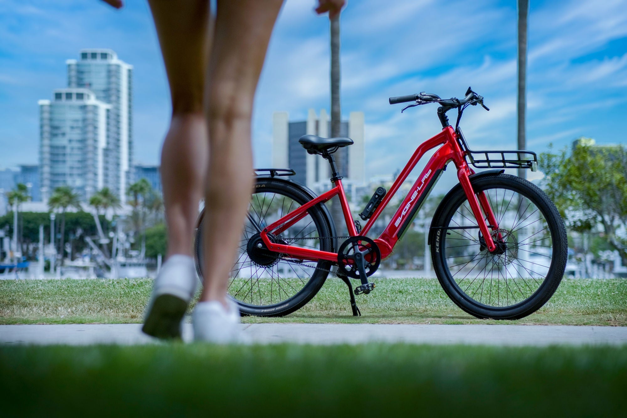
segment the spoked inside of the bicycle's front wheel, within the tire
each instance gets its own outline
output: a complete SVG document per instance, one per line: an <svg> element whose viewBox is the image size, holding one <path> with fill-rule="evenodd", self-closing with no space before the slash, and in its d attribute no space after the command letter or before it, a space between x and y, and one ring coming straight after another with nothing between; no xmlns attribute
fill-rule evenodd
<svg viewBox="0 0 627 418"><path fill-rule="evenodd" d="M491 232L497 249L490 253L483 238L473 238L475 228L446 230L441 260L459 291L468 298L488 306L517 305L544 282L552 264L552 252L545 250L552 249L551 234L533 200L508 188L499 190L499 186L484 189L483 193L498 223L498 235L496 228ZM472 226L477 223L467 200L461 201L449 216L451 226L461 227L461 221L472 222Z"/></svg>

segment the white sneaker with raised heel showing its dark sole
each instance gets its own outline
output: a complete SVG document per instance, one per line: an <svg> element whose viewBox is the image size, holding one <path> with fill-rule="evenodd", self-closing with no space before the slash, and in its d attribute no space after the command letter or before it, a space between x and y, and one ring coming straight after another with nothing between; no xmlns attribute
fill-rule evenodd
<svg viewBox="0 0 627 418"><path fill-rule="evenodd" d="M169 257L155 279L142 331L157 338L181 338L181 322L197 282L192 257Z"/></svg>

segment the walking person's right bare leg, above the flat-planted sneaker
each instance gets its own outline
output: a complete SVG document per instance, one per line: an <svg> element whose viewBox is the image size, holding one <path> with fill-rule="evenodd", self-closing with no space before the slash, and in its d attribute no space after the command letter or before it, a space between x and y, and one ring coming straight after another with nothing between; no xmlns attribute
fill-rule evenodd
<svg viewBox="0 0 627 418"><path fill-rule="evenodd" d="M206 86L209 170L201 301L226 306L226 288L250 201L253 99L282 0L218 0Z"/></svg>

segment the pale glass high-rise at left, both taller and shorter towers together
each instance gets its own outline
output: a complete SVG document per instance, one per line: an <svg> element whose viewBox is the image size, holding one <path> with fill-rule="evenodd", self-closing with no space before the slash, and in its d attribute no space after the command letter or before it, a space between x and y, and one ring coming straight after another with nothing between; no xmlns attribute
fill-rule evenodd
<svg viewBox="0 0 627 418"><path fill-rule="evenodd" d="M81 50L66 65L68 88L40 101L42 198L68 185L85 198L108 187L124 202L132 180L133 67L107 49Z"/></svg>

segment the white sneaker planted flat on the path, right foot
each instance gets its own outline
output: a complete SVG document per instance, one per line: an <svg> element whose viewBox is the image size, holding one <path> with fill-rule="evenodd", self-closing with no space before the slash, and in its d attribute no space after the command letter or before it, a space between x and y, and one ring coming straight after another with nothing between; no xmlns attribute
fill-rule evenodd
<svg viewBox="0 0 627 418"><path fill-rule="evenodd" d="M215 344L248 342L240 328L240 308L228 300L229 309L217 301L196 304L192 322L194 340Z"/></svg>

